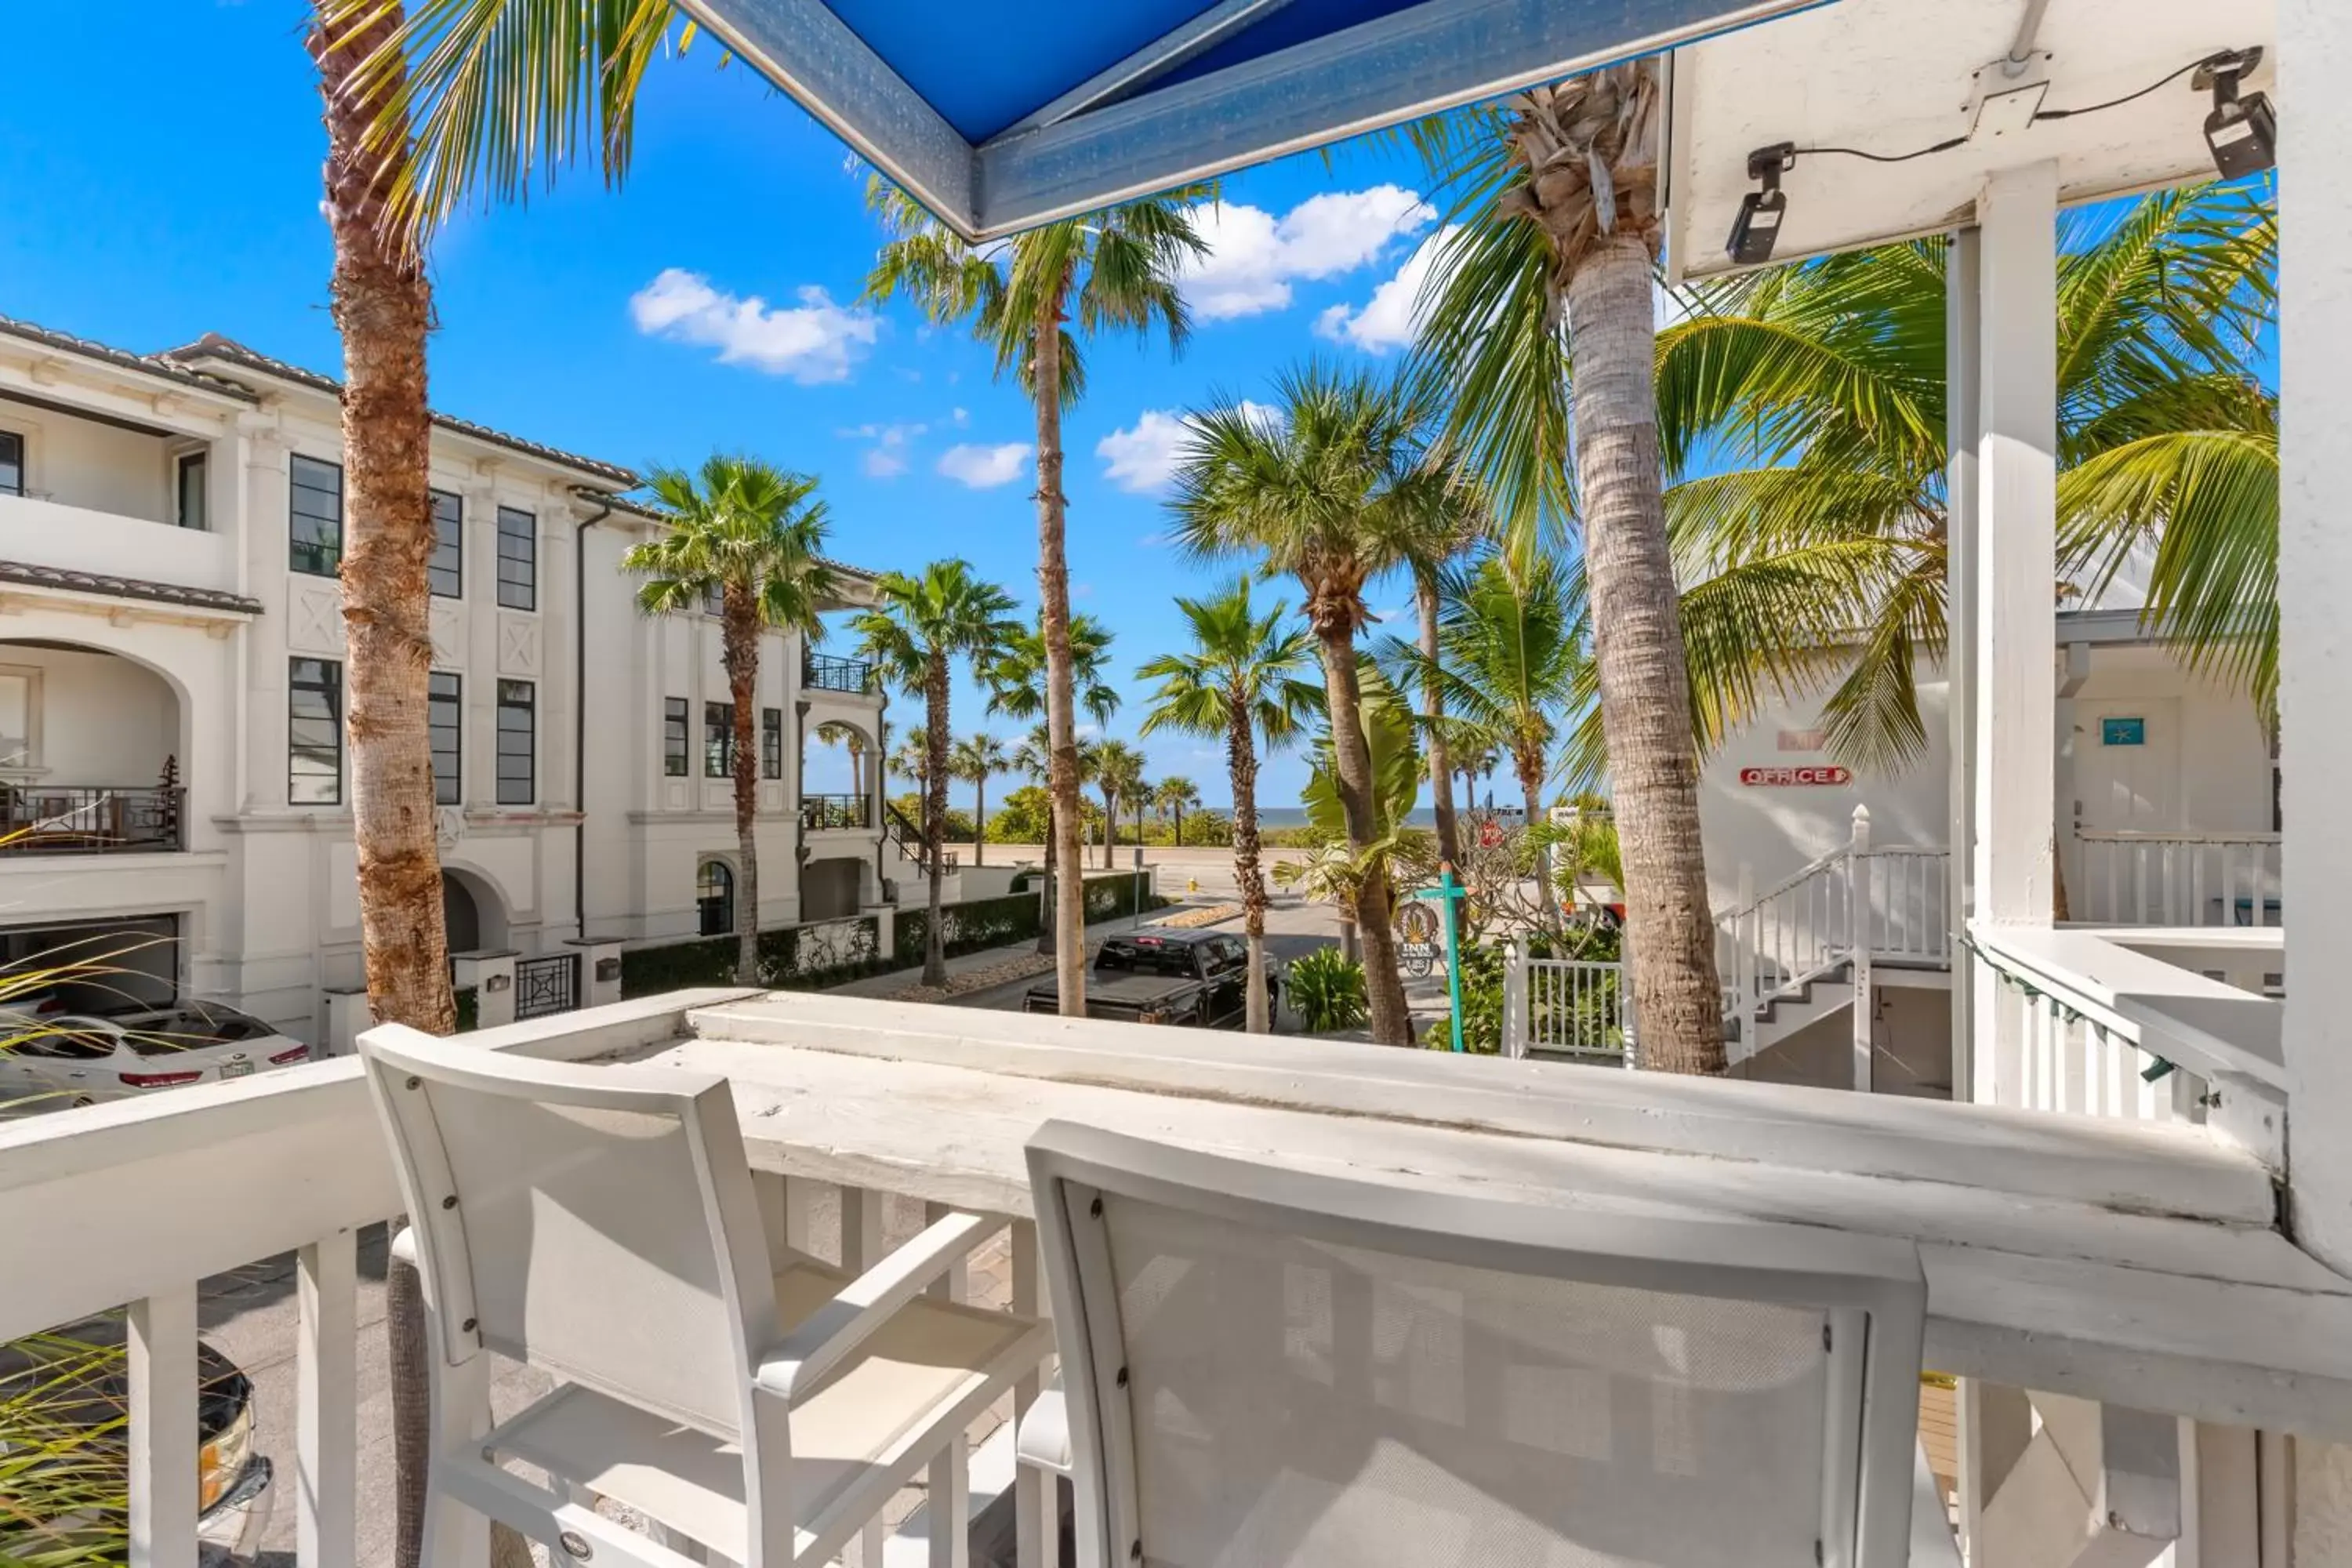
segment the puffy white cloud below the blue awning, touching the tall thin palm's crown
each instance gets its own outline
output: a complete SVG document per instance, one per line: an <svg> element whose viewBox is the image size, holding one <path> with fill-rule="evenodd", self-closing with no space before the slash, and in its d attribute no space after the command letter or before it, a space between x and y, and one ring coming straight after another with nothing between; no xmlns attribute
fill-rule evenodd
<svg viewBox="0 0 2352 1568"><path fill-rule="evenodd" d="M1282 310L1291 280L1338 277L1369 266L1390 240L1430 223L1437 212L1402 186L1327 190L1279 219L1244 202L1202 202L1192 223L1209 254L1183 268L1183 292L1202 320Z"/></svg>

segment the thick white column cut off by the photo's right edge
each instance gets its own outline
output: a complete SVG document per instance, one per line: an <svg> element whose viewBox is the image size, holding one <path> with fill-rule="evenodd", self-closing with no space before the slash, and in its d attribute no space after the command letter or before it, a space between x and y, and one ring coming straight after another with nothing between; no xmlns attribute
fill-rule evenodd
<svg viewBox="0 0 2352 1568"><path fill-rule="evenodd" d="M2288 1222L2352 1274L2352 9L2279 0L2279 769L2286 912ZM2303 959L2310 959L2307 964Z"/></svg>

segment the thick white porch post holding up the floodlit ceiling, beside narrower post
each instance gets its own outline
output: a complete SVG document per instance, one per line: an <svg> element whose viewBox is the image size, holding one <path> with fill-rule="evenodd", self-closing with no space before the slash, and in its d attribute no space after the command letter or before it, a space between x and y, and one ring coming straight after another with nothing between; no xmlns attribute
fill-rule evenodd
<svg viewBox="0 0 2352 1568"><path fill-rule="evenodd" d="M1978 197L1976 919L2046 924L2058 701L2058 165L2002 169ZM1992 1018L1990 971L1976 1013ZM1978 1100L1990 1051L1971 1041Z"/></svg>

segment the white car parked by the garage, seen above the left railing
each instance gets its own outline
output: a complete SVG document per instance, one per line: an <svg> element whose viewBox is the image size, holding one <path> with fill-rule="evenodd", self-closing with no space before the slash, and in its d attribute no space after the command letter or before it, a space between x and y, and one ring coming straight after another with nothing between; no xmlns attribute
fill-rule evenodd
<svg viewBox="0 0 2352 1568"><path fill-rule="evenodd" d="M219 1001L134 1001L85 1013L56 999L0 1006L0 1114L242 1079L306 1060L310 1046Z"/></svg>

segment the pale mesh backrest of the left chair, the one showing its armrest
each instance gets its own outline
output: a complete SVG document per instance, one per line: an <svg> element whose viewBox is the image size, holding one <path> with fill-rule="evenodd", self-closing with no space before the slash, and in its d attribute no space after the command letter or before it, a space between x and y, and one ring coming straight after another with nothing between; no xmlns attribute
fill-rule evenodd
<svg viewBox="0 0 2352 1568"><path fill-rule="evenodd" d="M741 1436L776 1295L727 1081L360 1037L440 1354Z"/></svg>

